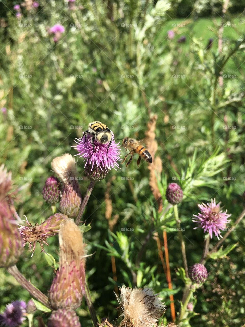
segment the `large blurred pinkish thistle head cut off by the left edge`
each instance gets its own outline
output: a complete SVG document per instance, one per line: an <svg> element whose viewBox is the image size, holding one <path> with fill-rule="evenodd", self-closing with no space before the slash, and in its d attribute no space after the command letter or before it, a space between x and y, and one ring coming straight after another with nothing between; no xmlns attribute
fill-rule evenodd
<svg viewBox="0 0 245 327"><path fill-rule="evenodd" d="M23 252L24 242L9 206L11 173L0 166L0 267L16 264Z"/></svg>

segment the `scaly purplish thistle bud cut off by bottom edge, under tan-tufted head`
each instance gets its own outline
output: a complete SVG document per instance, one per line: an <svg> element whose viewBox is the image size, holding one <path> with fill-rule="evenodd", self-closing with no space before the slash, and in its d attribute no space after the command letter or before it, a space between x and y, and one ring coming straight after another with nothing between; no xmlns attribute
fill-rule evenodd
<svg viewBox="0 0 245 327"><path fill-rule="evenodd" d="M69 309L58 309L52 311L48 319L48 327L81 327L79 318L75 311Z"/></svg>

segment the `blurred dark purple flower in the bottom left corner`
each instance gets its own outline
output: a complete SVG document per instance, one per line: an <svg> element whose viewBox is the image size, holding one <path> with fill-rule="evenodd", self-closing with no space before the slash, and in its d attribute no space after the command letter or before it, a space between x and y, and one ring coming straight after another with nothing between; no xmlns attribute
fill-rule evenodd
<svg viewBox="0 0 245 327"><path fill-rule="evenodd" d="M26 304L24 301L14 301L6 305L6 309L0 315L0 325L5 327L18 327L22 325L25 318Z"/></svg>

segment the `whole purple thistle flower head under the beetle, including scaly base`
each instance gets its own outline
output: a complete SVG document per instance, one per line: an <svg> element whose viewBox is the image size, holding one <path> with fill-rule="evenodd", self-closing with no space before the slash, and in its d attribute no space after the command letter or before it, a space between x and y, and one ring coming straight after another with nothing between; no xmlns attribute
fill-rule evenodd
<svg viewBox="0 0 245 327"><path fill-rule="evenodd" d="M86 159L85 168L86 175L91 180L101 180L106 177L108 170L119 168L118 161L120 161L120 146L114 141L114 134L112 134L112 142L108 148L108 144L101 144L94 141L95 151L91 144L91 137L76 139L77 143L74 148L78 151L79 158ZM108 150L108 153L107 153ZM97 169L98 168L98 169Z"/></svg>

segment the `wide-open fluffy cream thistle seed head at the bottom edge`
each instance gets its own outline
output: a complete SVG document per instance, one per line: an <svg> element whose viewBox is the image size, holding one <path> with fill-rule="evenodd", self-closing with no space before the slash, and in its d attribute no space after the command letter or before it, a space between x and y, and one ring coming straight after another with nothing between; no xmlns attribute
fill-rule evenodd
<svg viewBox="0 0 245 327"><path fill-rule="evenodd" d="M129 288L122 286L118 301L124 316L120 326L152 327L157 326L158 318L165 312L164 303L151 288Z"/></svg>

